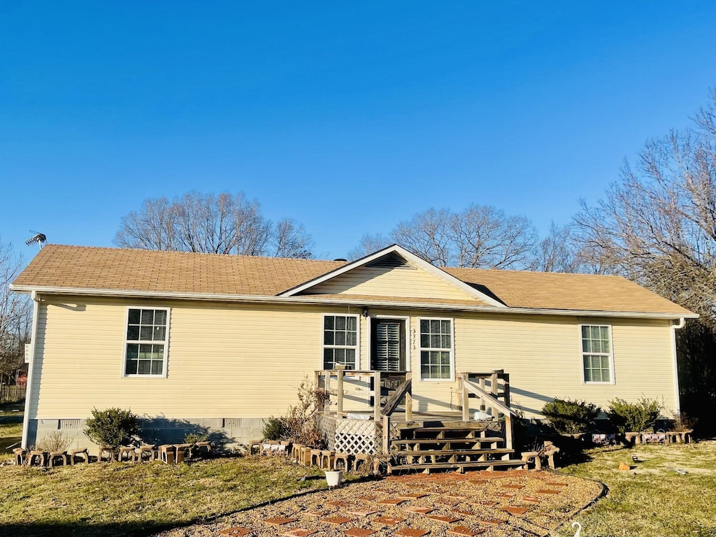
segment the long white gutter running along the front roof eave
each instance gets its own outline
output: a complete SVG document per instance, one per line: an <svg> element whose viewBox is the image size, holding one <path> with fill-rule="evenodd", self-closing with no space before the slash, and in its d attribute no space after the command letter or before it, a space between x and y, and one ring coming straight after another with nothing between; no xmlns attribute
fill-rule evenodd
<svg viewBox="0 0 716 537"><path fill-rule="evenodd" d="M314 296L267 296L267 295L237 295L237 294L208 294L208 293L179 293L176 291L133 291L127 289L86 289L72 287L44 287L44 286L14 286L12 291L32 292L43 294L61 294L72 296L106 296L147 299L174 299L174 300L203 300L219 302L253 302L256 304L318 304L318 305L350 305L374 306L387 308L419 308L437 309L443 311L479 311L493 314L521 314L521 315L555 315L555 316L585 316L585 317L622 317L627 319L698 319L697 314L682 313L656 313L653 311L599 311L582 309L546 309L546 308L511 308L495 306L470 306L467 304L440 304L430 302L412 301L384 301L370 299L325 299L320 295Z"/></svg>

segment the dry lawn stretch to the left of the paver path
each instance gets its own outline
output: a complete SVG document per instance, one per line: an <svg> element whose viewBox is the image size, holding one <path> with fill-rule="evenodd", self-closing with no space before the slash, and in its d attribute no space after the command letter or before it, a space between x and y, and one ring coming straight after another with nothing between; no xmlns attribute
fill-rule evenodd
<svg viewBox="0 0 716 537"><path fill-rule="evenodd" d="M310 473L320 478L297 481ZM282 458L0 468L0 534L141 536L325 486Z"/></svg>

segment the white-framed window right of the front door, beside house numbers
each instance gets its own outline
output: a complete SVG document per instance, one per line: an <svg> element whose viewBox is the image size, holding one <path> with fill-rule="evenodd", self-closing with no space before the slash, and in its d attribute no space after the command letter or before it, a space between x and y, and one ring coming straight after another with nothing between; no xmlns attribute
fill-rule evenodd
<svg viewBox="0 0 716 537"><path fill-rule="evenodd" d="M420 319L420 379L455 379L453 319Z"/></svg>

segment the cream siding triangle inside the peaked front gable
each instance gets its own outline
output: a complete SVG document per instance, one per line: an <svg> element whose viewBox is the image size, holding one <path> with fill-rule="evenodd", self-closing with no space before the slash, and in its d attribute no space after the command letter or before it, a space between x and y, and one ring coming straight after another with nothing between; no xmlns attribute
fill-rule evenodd
<svg viewBox="0 0 716 537"><path fill-rule="evenodd" d="M405 296L411 298L474 299L422 269L360 267L311 288L311 294ZM475 304L480 301L475 299Z"/></svg>

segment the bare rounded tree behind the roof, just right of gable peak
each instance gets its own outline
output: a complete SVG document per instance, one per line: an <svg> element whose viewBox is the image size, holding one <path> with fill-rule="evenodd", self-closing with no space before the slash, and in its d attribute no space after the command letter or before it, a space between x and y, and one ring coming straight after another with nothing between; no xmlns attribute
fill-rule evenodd
<svg viewBox="0 0 716 537"><path fill-rule="evenodd" d="M505 216L489 205L461 213L428 209L392 231L395 243L437 266L523 269L530 265L537 232L523 216Z"/></svg>

